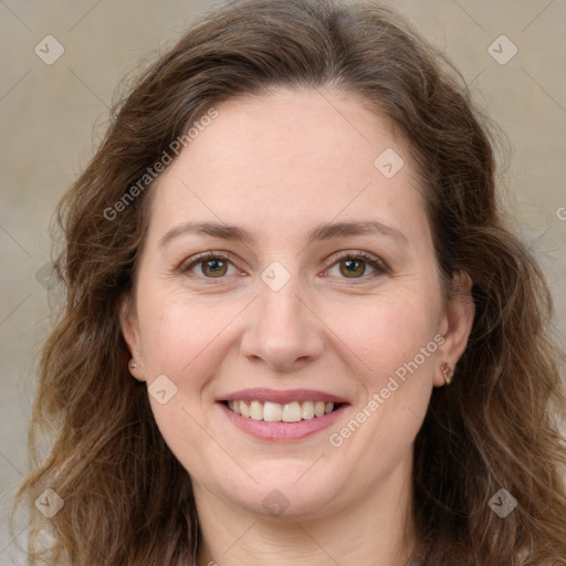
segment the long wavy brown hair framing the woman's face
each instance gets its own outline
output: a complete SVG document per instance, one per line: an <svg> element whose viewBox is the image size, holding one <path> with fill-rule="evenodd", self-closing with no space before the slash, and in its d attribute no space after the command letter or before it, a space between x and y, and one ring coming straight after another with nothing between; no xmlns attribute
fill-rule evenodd
<svg viewBox="0 0 566 566"><path fill-rule="evenodd" d="M30 509L30 564L195 564L190 476L128 373L119 325L154 185L139 179L214 105L277 87L349 94L385 116L416 165L443 292L457 292L458 273L473 282L468 347L415 439L422 564L565 565L564 353L544 274L502 214L489 120L450 60L401 15L310 0L247 0L201 17L114 104L59 205L65 300L41 349L33 469L12 507ZM51 444L39 461L41 432ZM64 501L50 520L33 505L48 488ZM504 520L489 507L500 489L517 501Z"/></svg>

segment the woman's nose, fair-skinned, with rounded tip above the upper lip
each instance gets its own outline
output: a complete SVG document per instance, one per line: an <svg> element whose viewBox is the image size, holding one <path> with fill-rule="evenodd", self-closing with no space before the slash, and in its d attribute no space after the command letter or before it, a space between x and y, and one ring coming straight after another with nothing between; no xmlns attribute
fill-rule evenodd
<svg viewBox="0 0 566 566"><path fill-rule="evenodd" d="M241 353L274 371L296 371L324 350L324 324L307 301L300 297L295 277L273 291L260 283L241 340Z"/></svg>

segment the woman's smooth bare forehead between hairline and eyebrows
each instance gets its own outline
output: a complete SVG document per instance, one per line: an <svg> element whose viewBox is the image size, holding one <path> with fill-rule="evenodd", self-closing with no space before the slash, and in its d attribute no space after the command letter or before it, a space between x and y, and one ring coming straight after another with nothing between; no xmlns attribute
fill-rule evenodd
<svg viewBox="0 0 566 566"><path fill-rule="evenodd" d="M214 108L154 187L150 230L210 219L291 232L364 216L426 231L401 140L358 97L281 88ZM384 160L399 170L384 175Z"/></svg>

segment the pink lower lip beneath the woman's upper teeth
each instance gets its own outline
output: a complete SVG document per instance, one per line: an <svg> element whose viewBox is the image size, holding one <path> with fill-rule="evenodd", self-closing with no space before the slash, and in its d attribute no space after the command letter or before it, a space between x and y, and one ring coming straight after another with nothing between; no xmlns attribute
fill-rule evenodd
<svg viewBox="0 0 566 566"><path fill-rule="evenodd" d="M292 442L319 432L331 427L348 407L348 405L343 405L335 411L324 415L324 417L314 417L307 420L300 420L298 422L266 422L252 419L251 417L242 417L230 410L224 403L219 402L219 405L224 415L240 430L259 440L270 440L273 442Z"/></svg>

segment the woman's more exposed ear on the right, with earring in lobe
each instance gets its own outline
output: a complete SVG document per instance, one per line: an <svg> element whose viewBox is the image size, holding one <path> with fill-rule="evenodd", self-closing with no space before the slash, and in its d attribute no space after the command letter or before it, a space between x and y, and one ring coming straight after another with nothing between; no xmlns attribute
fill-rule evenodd
<svg viewBox="0 0 566 566"><path fill-rule="evenodd" d="M444 342L439 347L440 361L447 361L455 368L468 345L475 315L475 305L472 297L473 282L468 273L458 273L452 279L452 289L444 315L440 323L440 333ZM434 386L446 385L444 377L439 367L434 373Z"/></svg>

